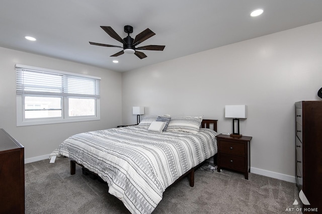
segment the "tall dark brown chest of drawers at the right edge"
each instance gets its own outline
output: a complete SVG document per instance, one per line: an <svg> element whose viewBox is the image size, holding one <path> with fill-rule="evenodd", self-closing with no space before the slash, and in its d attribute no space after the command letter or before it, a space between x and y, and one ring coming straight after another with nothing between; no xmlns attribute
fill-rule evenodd
<svg viewBox="0 0 322 214"><path fill-rule="evenodd" d="M295 102L295 118L296 185L310 203L303 209L322 213L322 101Z"/></svg>

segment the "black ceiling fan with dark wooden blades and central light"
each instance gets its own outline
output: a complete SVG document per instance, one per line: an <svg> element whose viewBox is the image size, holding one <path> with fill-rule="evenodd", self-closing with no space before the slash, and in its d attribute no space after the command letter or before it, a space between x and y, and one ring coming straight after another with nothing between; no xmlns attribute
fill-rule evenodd
<svg viewBox="0 0 322 214"><path fill-rule="evenodd" d="M124 53L131 53L135 54L138 58L143 59L146 57L146 55L143 52L137 51L137 50L150 50L150 51L163 51L166 46L164 45L146 45L141 47L135 47L141 42L147 40L148 38L155 35L150 29L145 29L138 35L136 35L135 39L130 37L130 34L133 33L133 27L126 25L124 26L124 32L127 33L127 37L121 38L110 26L101 26L101 28L110 35L113 39L116 39L117 41L121 42L123 44L122 46L117 45L106 45L96 42L90 42L91 45L98 45L98 46L105 46L105 47L116 47L116 48L123 48L122 51L113 54L112 56L119 56Z"/></svg>

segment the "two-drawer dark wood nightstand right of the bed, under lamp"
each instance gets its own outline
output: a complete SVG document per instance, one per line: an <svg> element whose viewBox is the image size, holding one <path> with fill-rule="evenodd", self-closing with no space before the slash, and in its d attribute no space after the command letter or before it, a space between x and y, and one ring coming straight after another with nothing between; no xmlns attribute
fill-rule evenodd
<svg viewBox="0 0 322 214"><path fill-rule="evenodd" d="M218 155L217 171L227 168L243 172L248 180L251 171L251 140L252 137L242 136L240 138L220 134L217 137Z"/></svg>

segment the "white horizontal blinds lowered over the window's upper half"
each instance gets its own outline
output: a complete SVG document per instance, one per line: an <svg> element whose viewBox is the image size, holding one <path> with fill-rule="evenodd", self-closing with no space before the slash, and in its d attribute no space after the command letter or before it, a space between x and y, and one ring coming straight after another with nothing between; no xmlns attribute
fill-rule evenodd
<svg viewBox="0 0 322 214"><path fill-rule="evenodd" d="M100 97L100 77L16 65L17 95Z"/></svg>

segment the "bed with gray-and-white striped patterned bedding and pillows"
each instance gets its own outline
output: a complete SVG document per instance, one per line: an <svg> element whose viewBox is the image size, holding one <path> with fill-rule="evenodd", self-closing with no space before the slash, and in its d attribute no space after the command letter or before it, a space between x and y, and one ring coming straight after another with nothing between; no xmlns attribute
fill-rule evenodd
<svg viewBox="0 0 322 214"><path fill-rule="evenodd" d="M210 129L210 127L212 129ZM151 213L163 192L217 153L216 120L148 116L139 125L67 138L51 154L98 175L131 213Z"/></svg>

